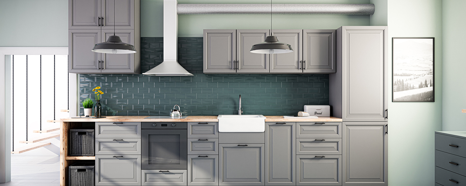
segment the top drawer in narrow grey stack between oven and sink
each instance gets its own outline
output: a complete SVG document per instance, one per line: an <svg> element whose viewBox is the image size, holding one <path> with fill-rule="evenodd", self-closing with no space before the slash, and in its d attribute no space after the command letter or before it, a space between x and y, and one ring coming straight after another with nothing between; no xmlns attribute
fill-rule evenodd
<svg viewBox="0 0 466 186"><path fill-rule="evenodd" d="M219 138L219 122L188 122L188 138Z"/></svg>

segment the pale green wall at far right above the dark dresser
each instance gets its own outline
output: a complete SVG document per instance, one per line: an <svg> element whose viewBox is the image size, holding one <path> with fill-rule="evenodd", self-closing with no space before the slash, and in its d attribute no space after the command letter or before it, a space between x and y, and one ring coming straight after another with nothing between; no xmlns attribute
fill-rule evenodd
<svg viewBox="0 0 466 186"><path fill-rule="evenodd" d="M443 1L443 130L466 131L466 1Z"/></svg>

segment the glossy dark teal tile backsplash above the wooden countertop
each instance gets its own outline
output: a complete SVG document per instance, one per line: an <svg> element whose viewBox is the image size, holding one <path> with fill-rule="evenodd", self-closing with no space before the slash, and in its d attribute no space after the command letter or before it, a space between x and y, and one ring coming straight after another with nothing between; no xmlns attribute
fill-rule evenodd
<svg viewBox="0 0 466 186"><path fill-rule="evenodd" d="M329 104L327 74L204 74L202 37L178 38L178 62L194 76L80 74L80 101L101 86L103 115L295 115L303 105ZM163 38L141 38L141 71L163 61ZM81 115L83 109L81 106Z"/></svg>

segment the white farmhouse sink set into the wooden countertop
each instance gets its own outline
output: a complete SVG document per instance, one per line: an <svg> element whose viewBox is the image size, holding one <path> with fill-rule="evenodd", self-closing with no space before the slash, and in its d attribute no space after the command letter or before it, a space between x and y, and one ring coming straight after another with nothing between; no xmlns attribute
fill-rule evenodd
<svg viewBox="0 0 466 186"><path fill-rule="evenodd" d="M265 116L263 115L219 115L219 132L221 133L263 133Z"/></svg>

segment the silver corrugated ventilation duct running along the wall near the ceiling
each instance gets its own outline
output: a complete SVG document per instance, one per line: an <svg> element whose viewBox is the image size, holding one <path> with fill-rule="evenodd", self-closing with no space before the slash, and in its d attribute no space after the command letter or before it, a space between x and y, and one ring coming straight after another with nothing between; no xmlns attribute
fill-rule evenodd
<svg viewBox="0 0 466 186"><path fill-rule="evenodd" d="M372 15L374 4L273 4L273 14ZM270 14L270 4L178 4L179 15Z"/></svg>

